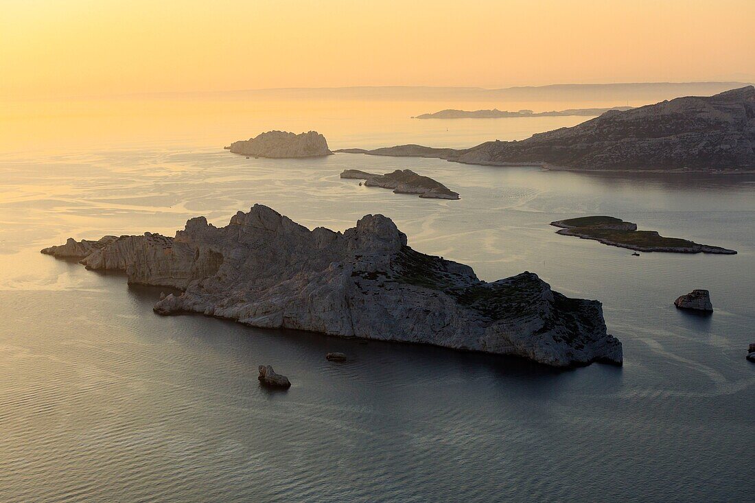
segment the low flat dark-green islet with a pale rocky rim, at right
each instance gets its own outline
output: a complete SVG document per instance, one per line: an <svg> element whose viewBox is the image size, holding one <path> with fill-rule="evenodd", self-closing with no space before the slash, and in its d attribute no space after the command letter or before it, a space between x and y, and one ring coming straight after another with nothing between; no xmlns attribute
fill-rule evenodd
<svg viewBox="0 0 755 503"><path fill-rule="evenodd" d="M625 222L621 218L594 216L568 218L550 222L563 236L577 236L594 239L604 245L629 248L639 252L673 253L718 253L735 255L737 252L720 246L700 245L687 239L667 238L655 230L637 230L637 224Z"/></svg>

